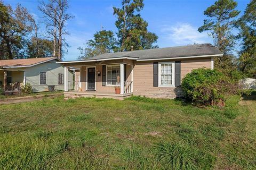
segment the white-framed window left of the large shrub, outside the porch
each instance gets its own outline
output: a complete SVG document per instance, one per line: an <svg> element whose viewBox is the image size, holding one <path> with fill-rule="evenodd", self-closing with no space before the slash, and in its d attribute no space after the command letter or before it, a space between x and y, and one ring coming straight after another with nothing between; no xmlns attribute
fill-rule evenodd
<svg viewBox="0 0 256 170"><path fill-rule="evenodd" d="M158 64L158 86L174 86L174 62L163 62Z"/></svg>

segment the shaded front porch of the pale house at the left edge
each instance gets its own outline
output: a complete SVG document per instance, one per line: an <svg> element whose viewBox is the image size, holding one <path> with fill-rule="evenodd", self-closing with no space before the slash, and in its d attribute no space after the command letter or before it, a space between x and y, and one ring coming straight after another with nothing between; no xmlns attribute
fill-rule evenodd
<svg viewBox="0 0 256 170"><path fill-rule="evenodd" d="M0 93L4 95L20 95L21 84L26 82L26 72L22 70L0 70Z"/></svg>

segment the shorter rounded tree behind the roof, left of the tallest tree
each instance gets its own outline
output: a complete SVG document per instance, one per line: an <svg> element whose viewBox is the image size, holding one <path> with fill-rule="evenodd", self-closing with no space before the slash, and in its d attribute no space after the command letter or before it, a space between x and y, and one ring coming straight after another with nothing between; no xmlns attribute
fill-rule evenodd
<svg viewBox="0 0 256 170"><path fill-rule="evenodd" d="M87 41L85 47L79 47L79 60L95 55L116 51L116 39L112 31L102 30L93 35L94 39Z"/></svg>

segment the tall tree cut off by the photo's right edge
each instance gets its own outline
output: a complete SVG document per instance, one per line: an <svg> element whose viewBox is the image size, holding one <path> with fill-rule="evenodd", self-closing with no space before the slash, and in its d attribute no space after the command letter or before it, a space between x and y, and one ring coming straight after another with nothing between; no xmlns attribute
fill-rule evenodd
<svg viewBox="0 0 256 170"><path fill-rule="evenodd" d="M256 77L256 0L252 0L243 16L236 22L238 39L242 40L239 52L239 70L249 77Z"/></svg>

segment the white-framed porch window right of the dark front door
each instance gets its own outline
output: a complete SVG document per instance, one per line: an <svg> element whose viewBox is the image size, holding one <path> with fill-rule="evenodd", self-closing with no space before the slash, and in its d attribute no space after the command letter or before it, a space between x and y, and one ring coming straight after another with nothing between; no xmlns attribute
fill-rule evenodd
<svg viewBox="0 0 256 170"><path fill-rule="evenodd" d="M107 67L107 84L108 85L118 84L117 77L118 76L120 77L120 66L116 65L116 66L106 66L106 67Z"/></svg>

